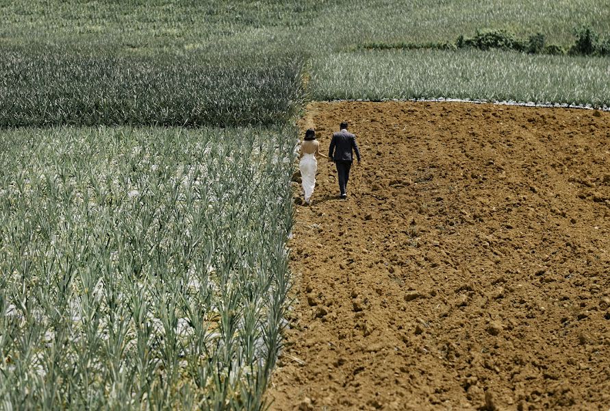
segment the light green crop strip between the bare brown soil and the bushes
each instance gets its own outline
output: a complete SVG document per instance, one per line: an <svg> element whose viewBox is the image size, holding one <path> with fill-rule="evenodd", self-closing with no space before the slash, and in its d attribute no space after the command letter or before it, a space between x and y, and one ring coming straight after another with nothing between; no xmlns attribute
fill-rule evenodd
<svg viewBox="0 0 610 411"><path fill-rule="evenodd" d="M570 55L476 49L361 51L314 63L311 84L317 100L455 98L603 107L610 105L607 71L604 58Z"/></svg>

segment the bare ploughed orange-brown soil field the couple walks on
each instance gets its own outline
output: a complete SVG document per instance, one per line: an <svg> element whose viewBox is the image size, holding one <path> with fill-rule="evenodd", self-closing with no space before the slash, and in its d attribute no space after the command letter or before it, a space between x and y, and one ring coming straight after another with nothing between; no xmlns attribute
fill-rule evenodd
<svg viewBox="0 0 610 411"><path fill-rule="evenodd" d="M272 410L610 409L610 113L313 103Z"/></svg>

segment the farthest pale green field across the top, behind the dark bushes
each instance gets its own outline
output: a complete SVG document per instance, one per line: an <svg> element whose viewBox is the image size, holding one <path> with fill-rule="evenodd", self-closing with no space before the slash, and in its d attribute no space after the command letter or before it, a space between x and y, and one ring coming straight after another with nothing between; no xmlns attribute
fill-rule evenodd
<svg viewBox="0 0 610 411"><path fill-rule="evenodd" d="M91 42L158 53L218 45L283 49L290 38L291 47L339 51L367 41L455 40L485 27L519 36L541 32L567 46L580 25L607 33L609 6L607 0L23 0L3 1L0 10L1 37L9 44ZM275 45L259 43L274 37Z"/></svg>

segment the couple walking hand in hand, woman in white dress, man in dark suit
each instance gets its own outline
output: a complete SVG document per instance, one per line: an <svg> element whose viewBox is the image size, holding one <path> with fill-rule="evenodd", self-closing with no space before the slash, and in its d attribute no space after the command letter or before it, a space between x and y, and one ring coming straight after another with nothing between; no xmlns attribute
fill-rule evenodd
<svg viewBox="0 0 610 411"><path fill-rule="evenodd" d="M337 173L339 175L339 192L340 197L347 197L347 182L349 179L349 171L353 162L353 152L356 153L358 164L360 164L360 151L356 144L356 136L347 131L348 124L344 121L340 125L341 131L333 133L333 139L329 146L329 160L335 162ZM312 203L312 194L316 186L316 171L318 169L318 161L316 156L320 155L320 142L316 140L316 132L314 129L308 129L305 132L305 139L301 145L301 162L298 167L301 169L301 184L305 192L305 203Z"/></svg>

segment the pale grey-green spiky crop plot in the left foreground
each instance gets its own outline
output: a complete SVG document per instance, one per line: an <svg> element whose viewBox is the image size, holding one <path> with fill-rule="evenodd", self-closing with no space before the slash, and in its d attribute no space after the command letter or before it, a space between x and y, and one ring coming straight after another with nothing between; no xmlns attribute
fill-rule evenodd
<svg viewBox="0 0 610 411"><path fill-rule="evenodd" d="M294 130L0 134L0 406L258 409Z"/></svg>

